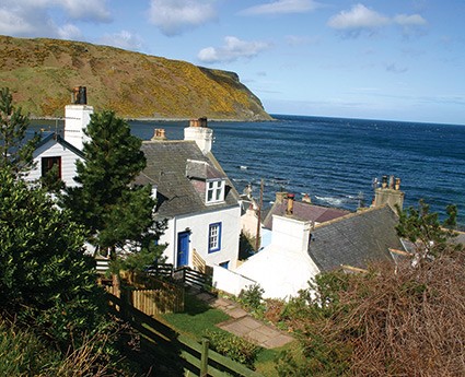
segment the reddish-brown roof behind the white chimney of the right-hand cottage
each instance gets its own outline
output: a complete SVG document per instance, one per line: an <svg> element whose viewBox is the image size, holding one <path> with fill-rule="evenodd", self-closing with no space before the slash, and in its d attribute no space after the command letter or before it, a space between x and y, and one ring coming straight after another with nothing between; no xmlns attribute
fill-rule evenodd
<svg viewBox="0 0 465 377"><path fill-rule="evenodd" d="M272 229L272 215L277 214L280 216L286 215L288 208L288 199L282 200L281 203L275 202L267 213L264 226L268 229ZM337 217L349 214L350 211L340 210L336 208L315 205L303 201L294 200L293 216L300 220L312 221L316 223L324 223Z"/></svg>

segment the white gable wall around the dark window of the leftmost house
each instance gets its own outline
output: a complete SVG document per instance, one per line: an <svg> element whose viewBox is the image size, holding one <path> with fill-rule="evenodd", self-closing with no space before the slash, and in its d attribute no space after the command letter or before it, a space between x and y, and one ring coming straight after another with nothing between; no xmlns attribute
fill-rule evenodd
<svg viewBox="0 0 465 377"><path fill-rule="evenodd" d="M61 180L68 187L77 186L74 181L75 162L77 160L82 161L74 152L59 144L56 140L50 140L37 150L34 151L33 157L35 168L26 175L26 180L36 180L42 175L42 157L61 157Z"/></svg>

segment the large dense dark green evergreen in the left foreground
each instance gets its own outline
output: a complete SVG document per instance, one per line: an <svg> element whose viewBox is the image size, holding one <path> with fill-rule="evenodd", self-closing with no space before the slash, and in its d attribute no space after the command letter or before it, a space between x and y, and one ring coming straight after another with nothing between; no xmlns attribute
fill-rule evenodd
<svg viewBox="0 0 465 377"><path fill-rule="evenodd" d="M0 170L0 310L61 350L107 326L84 229L40 188Z"/></svg>

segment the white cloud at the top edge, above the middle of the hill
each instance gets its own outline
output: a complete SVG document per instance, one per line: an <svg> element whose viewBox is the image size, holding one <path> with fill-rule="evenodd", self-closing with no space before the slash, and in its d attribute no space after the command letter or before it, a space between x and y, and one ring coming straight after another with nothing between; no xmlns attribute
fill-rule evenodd
<svg viewBox="0 0 465 377"><path fill-rule="evenodd" d="M167 35L179 35L217 19L214 0L151 0L150 21Z"/></svg>

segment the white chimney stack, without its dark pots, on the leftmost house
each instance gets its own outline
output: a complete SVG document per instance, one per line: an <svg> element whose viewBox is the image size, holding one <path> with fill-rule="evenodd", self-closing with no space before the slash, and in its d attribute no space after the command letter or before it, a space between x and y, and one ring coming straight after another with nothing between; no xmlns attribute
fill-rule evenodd
<svg viewBox="0 0 465 377"><path fill-rule="evenodd" d="M94 108L88 105L67 105L65 107L65 140L82 151L83 142L90 139L84 134Z"/></svg>

